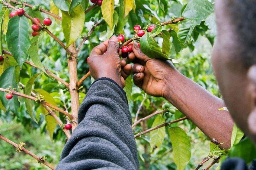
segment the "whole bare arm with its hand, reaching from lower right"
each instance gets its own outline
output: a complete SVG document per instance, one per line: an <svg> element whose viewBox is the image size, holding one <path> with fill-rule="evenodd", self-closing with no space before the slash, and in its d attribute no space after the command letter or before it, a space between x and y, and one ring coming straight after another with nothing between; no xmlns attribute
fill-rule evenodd
<svg viewBox="0 0 256 170"><path fill-rule="evenodd" d="M221 147L229 149L234 122L227 111L218 111L225 107L223 100L183 76L170 61L150 59L136 42L128 59L135 63L135 85L149 95L167 99L208 138L217 139L223 143Z"/></svg>

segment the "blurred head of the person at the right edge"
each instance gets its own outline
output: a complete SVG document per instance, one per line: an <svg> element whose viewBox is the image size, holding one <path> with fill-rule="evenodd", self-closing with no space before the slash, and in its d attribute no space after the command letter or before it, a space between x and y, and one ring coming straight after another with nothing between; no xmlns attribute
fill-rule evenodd
<svg viewBox="0 0 256 170"><path fill-rule="evenodd" d="M215 13L213 70L235 123L256 142L256 0L216 0Z"/></svg>

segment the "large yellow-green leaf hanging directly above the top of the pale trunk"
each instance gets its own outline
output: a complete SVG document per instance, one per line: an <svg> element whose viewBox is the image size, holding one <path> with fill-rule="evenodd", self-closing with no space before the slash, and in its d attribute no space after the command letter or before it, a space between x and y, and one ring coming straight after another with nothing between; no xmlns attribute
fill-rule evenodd
<svg viewBox="0 0 256 170"><path fill-rule="evenodd" d="M61 26L66 39L66 47L69 47L73 42L75 42L81 35L84 22L85 22L85 12L81 5L73 9L72 13L65 11L62 12L62 22Z"/></svg>

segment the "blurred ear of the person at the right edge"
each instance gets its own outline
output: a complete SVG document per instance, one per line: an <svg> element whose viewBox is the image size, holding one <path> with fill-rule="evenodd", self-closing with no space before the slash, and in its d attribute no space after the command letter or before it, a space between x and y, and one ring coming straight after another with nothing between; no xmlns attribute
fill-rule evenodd
<svg viewBox="0 0 256 170"><path fill-rule="evenodd" d="M247 78L249 80L249 94L251 95L251 113L248 117L248 126L251 133L256 134L256 64L249 68Z"/></svg>

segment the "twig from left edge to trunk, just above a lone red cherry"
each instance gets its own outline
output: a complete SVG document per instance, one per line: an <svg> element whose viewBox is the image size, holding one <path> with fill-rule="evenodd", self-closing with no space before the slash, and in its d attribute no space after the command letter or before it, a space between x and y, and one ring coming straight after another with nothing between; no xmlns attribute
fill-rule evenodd
<svg viewBox="0 0 256 170"><path fill-rule="evenodd" d="M0 91L5 92L5 89L4 88L0 88ZM14 95L17 95L17 96L25 97L25 98L30 99L30 100L34 100L34 101L37 100L36 97L32 97L32 96L29 96L29 95L26 95L26 94L23 94L23 93L19 93L19 92L14 91L14 90L12 90L11 93L14 94ZM54 106L54 105L52 105L50 103L47 103L45 101L41 101L40 103L44 104L46 106L49 106L49 107L53 108L54 110L59 111L60 113L63 113L64 115L68 116L70 119L73 119L72 115L70 115L69 113L67 113L64 110L60 109L59 107L56 107L56 106Z"/></svg>

